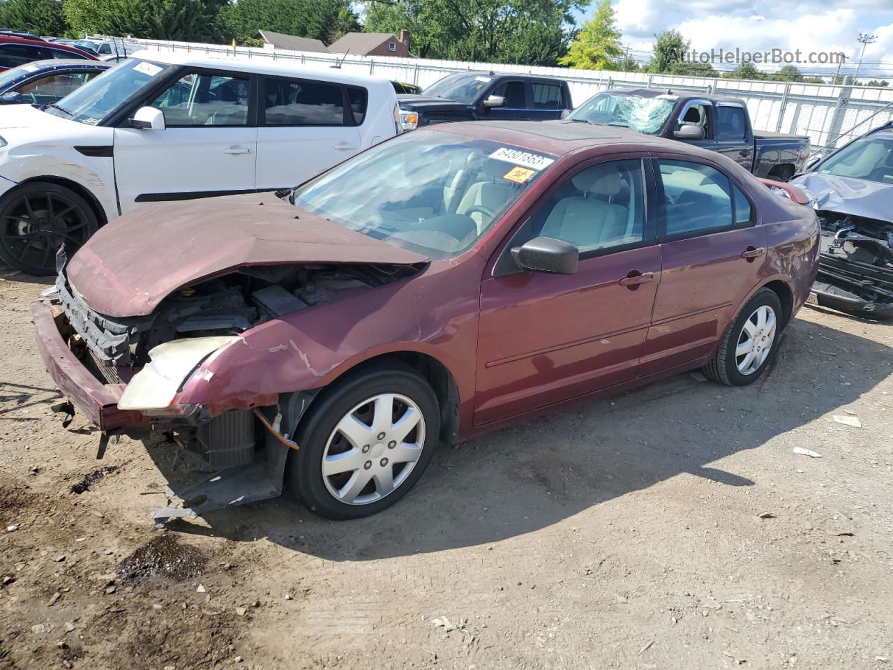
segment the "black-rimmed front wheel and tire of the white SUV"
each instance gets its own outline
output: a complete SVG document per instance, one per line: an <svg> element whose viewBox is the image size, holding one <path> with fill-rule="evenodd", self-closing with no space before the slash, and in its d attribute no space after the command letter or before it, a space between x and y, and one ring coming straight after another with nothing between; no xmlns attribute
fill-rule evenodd
<svg viewBox="0 0 893 670"><path fill-rule="evenodd" d="M29 181L0 200L0 258L21 272L52 275L63 241L71 257L98 228L93 208L71 188Z"/></svg>

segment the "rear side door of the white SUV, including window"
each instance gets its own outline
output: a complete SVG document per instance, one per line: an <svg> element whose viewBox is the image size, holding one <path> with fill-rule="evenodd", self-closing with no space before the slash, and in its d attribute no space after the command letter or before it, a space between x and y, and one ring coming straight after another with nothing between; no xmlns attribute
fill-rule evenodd
<svg viewBox="0 0 893 670"><path fill-rule="evenodd" d="M261 78L257 188L291 188L358 154L369 91L323 80Z"/></svg>

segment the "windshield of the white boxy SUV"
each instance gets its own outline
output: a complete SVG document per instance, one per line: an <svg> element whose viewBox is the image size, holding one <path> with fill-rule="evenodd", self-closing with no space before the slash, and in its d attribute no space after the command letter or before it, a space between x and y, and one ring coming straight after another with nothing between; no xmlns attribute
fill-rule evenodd
<svg viewBox="0 0 893 670"><path fill-rule="evenodd" d="M148 61L125 61L47 107L46 112L95 126L130 96L148 87L155 78L172 67Z"/></svg>

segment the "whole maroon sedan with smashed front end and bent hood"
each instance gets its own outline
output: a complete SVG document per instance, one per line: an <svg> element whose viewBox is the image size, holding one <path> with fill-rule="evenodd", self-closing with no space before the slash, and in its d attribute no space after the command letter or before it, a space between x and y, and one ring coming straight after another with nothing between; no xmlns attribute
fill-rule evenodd
<svg viewBox="0 0 893 670"><path fill-rule="evenodd" d="M686 370L755 381L818 236L811 209L714 152L452 123L280 197L122 216L60 257L34 322L62 411L104 436L171 431L221 470L157 518L284 479L344 519L403 496L438 442Z"/></svg>

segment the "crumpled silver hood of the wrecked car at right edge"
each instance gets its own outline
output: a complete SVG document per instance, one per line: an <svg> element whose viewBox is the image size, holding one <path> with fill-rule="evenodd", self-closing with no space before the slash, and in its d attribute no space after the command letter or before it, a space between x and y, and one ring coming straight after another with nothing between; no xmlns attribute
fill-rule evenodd
<svg viewBox="0 0 893 670"><path fill-rule="evenodd" d="M809 172L791 180L815 197L815 208L893 222L893 185Z"/></svg>

